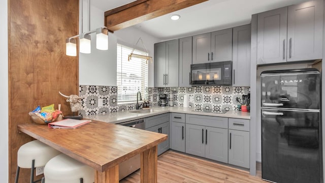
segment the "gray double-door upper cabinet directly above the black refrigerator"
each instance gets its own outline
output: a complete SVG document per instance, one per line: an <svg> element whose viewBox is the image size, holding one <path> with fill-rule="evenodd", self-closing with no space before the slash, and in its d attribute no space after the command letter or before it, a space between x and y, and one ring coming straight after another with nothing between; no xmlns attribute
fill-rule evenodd
<svg viewBox="0 0 325 183"><path fill-rule="evenodd" d="M257 15L257 64L322 58L323 1Z"/></svg>

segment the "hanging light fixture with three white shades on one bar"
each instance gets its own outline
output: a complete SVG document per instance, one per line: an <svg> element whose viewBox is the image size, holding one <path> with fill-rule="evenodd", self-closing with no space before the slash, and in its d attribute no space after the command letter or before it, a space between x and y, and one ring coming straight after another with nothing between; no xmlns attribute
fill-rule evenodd
<svg viewBox="0 0 325 183"><path fill-rule="evenodd" d="M88 0L88 32L83 33L83 0L80 0L81 27L80 35L70 37L66 41L66 54L77 56L76 39L79 38L79 50L81 53L91 53L91 35L96 33L96 49L108 50L108 29L107 27L96 28L90 31L90 0Z"/></svg>

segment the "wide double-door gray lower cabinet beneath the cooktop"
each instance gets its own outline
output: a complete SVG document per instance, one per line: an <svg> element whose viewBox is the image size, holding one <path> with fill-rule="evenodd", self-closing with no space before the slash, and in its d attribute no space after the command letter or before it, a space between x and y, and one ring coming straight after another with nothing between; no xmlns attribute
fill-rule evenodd
<svg viewBox="0 0 325 183"><path fill-rule="evenodd" d="M186 153L228 163L228 118L186 114L185 132Z"/></svg>

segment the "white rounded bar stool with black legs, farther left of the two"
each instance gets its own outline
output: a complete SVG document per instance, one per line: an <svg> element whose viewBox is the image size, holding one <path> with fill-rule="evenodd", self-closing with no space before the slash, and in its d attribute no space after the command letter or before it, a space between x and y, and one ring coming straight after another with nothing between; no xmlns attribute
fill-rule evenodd
<svg viewBox="0 0 325 183"><path fill-rule="evenodd" d="M17 172L15 183L18 182L20 168L30 168L30 183L34 181L34 170L36 167L45 166L45 164L53 157L59 155L60 152L45 143L34 140L20 146L17 153Z"/></svg>

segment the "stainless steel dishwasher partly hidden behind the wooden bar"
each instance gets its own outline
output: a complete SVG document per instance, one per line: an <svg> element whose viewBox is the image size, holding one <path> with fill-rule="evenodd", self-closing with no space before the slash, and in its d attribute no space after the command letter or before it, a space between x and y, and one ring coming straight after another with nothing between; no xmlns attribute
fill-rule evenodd
<svg viewBox="0 0 325 183"><path fill-rule="evenodd" d="M123 125L126 127L145 129L144 119L137 119L132 121L126 121L123 123L118 123L117 125ZM127 175L133 173L140 168L140 154L136 155L128 160L119 164L119 180L126 177Z"/></svg>

